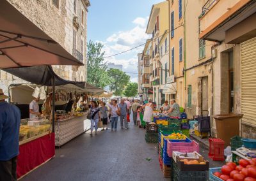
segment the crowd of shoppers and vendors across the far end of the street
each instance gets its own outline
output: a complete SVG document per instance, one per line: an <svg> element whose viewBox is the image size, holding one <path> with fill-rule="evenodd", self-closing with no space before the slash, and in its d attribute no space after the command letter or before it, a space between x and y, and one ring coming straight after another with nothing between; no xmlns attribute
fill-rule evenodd
<svg viewBox="0 0 256 181"><path fill-rule="evenodd" d="M98 123L102 121L102 131L108 130L108 124L111 122L111 131L116 131L118 126L118 120L120 122L121 129L129 129L130 114L132 113L132 120L134 126L143 127L141 122L152 122L153 112L156 109L156 105L152 102L152 99L145 100L141 103L138 99L111 99L108 103L103 101L91 101L90 102L90 116L91 119L91 133L93 135L93 128L95 128L95 135L97 135ZM164 104L160 108L161 112L168 116L179 117L180 107L175 102L175 99L164 101ZM141 114L143 117L141 117Z"/></svg>

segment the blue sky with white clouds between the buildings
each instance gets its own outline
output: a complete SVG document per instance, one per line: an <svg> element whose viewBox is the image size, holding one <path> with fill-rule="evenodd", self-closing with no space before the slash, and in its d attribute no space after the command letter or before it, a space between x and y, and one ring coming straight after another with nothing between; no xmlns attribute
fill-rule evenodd
<svg viewBox="0 0 256 181"><path fill-rule="evenodd" d="M88 41L104 44L105 56L113 55L145 43L148 16L152 4L164 0L90 0L88 8ZM122 64L123 71L137 82L138 57L143 47L131 52L106 59L108 62Z"/></svg>

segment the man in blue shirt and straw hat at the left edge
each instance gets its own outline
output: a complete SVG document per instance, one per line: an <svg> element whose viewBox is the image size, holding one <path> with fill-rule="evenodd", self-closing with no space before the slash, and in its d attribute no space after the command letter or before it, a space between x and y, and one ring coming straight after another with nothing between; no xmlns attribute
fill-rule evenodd
<svg viewBox="0 0 256 181"><path fill-rule="evenodd" d="M17 180L20 110L10 105L0 89L0 180Z"/></svg>

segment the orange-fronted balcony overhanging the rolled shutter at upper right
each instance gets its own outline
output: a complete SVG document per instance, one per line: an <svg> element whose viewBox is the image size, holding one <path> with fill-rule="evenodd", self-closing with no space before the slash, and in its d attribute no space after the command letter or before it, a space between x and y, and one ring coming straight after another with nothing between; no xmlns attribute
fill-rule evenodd
<svg viewBox="0 0 256 181"><path fill-rule="evenodd" d="M246 29L243 21L250 18L256 13L256 1L250 0L209 0L202 7L200 20L200 38L209 41L217 41L225 43L239 43L241 40L246 40L253 33L253 22L251 27L248 25ZM248 20L249 22L249 20ZM238 27L240 25L240 28ZM228 32L237 25L236 31ZM232 35L233 37L227 37ZM227 41L228 39L228 41ZM236 40L235 40L236 39Z"/></svg>

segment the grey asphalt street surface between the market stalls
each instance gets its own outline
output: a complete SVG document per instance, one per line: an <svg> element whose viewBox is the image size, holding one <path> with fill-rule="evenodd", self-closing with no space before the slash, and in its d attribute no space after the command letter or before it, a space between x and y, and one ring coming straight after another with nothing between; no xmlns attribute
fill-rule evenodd
<svg viewBox="0 0 256 181"><path fill-rule="evenodd" d="M170 180L161 173L157 145L146 143L144 129L132 122L129 127L99 131L92 138L84 133L56 148L54 159L21 180ZM207 158L208 150L202 145L200 154ZM209 161L211 167L223 164Z"/></svg>

